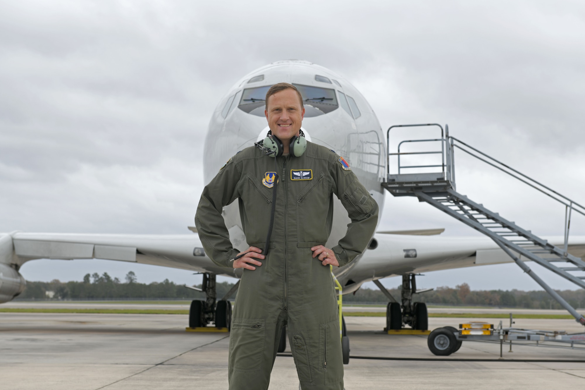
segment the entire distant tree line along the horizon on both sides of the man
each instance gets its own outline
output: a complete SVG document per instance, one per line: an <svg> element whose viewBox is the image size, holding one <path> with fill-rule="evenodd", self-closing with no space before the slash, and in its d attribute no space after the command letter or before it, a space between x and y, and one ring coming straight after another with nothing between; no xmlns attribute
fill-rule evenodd
<svg viewBox="0 0 585 390"><path fill-rule="evenodd" d="M217 296L221 299L233 283L217 283ZM197 285L201 287L201 285ZM388 289L400 301L400 286ZM585 290L557 291L573 307L585 307ZM204 299L205 293L177 285L168 279L149 284L138 283L134 272L126 275L125 281L111 278L108 273L87 274L82 282L27 282L25 291L16 299L67 300L67 299ZM233 298L233 296L232 296ZM415 302L449 306L500 306L525 307L527 309L562 309L545 291L521 290L474 290L467 283L450 287L439 287L417 294ZM380 290L362 288L356 293L343 296L343 302L386 303L388 299Z"/></svg>

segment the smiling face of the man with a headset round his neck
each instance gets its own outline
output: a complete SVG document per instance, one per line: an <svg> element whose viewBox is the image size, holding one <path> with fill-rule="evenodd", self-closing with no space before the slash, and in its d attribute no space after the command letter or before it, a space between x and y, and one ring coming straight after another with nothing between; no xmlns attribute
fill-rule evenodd
<svg viewBox="0 0 585 390"><path fill-rule="evenodd" d="M264 114L272 134L283 141L285 149L288 149L288 141L299 134L305 116L305 108L301 108L297 91L289 88L269 96L268 109L264 110Z"/></svg>

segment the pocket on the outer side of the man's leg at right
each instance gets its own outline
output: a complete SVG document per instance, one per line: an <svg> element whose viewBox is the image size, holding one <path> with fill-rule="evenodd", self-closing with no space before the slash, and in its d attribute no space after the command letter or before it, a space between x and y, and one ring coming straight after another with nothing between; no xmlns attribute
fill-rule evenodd
<svg viewBox="0 0 585 390"><path fill-rule="evenodd" d="M326 385L343 379L339 320L319 325L319 371L325 372Z"/></svg>

